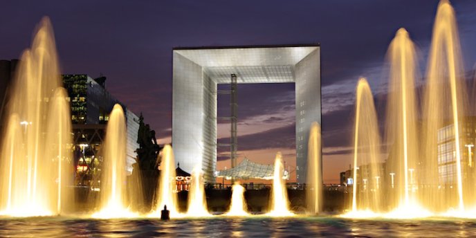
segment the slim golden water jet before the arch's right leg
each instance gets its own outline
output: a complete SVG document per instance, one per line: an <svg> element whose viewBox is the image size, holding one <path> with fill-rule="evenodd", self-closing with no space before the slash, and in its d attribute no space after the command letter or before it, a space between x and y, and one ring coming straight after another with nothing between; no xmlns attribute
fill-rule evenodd
<svg viewBox="0 0 476 238"><path fill-rule="evenodd" d="M313 122L309 131L309 145L307 156L307 210L311 214L318 214L322 205L322 159L321 134L318 122Z"/></svg>

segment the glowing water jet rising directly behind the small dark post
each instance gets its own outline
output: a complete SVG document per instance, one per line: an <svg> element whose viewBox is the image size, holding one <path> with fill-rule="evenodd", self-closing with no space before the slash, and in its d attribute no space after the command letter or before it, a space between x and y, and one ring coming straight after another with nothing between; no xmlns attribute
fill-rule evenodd
<svg viewBox="0 0 476 238"><path fill-rule="evenodd" d="M176 186L174 152L170 145L165 145L161 153L161 177L156 192L158 196L155 211L152 212L151 216L160 217L161 210L164 208L164 205L167 205L167 210L170 210L170 217L178 217L177 194L174 192Z"/></svg>

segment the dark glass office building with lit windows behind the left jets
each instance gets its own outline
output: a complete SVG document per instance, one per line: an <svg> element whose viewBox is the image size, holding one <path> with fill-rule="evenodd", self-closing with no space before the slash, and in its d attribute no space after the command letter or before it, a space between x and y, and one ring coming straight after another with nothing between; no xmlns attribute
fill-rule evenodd
<svg viewBox="0 0 476 238"><path fill-rule="evenodd" d="M132 172L136 162L139 119L124 104L114 98L105 87L106 77L92 79L85 74L62 75L64 88L68 91L73 122L74 159L76 184L98 187L102 157L100 149L104 142L106 124L114 104L122 105L127 123L127 165Z"/></svg>

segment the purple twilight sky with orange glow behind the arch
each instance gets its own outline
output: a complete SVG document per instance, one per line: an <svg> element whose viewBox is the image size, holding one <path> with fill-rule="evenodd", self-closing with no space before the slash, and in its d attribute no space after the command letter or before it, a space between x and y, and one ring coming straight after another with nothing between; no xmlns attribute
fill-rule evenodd
<svg viewBox="0 0 476 238"><path fill-rule="evenodd" d="M468 71L476 62L476 1L452 4ZM131 111L142 111L159 142L168 143L173 47L320 43L324 182L337 183L338 173L351 163L358 77L368 78L383 111L378 98L385 93L388 44L396 30L406 28L425 68L437 5L436 0L8 1L0 7L0 59L18 58L35 25L48 16L62 72L107 76L107 89ZM228 97L220 95L219 116L228 112ZM239 85L238 113L241 157L271 163L282 151L293 171L293 84ZM219 121L219 140L227 140L228 129ZM219 168L229 164L218 163Z"/></svg>

